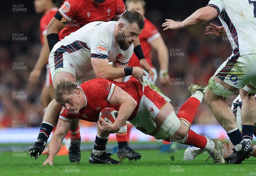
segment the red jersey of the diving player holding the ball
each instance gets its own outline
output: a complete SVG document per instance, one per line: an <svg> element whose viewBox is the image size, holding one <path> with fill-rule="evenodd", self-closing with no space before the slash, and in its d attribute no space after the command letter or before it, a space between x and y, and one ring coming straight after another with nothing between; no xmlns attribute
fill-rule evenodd
<svg viewBox="0 0 256 176"><path fill-rule="evenodd" d="M77 114L63 108L59 118L64 121L73 121L74 118L79 118L85 121L96 122L99 119L99 113L102 109L112 107L118 111L120 107L119 105L109 103L116 85L121 87L137 101L137 107L134 109L134 112L129 119L134 118L140 105L140 99L143 96L143 85L138 81L119 83L116 81L109 81L107 79L99 78L85 81L78 86L85 95L86 107L81 109ZM122 96L121 93L120 96Z"/></svg>

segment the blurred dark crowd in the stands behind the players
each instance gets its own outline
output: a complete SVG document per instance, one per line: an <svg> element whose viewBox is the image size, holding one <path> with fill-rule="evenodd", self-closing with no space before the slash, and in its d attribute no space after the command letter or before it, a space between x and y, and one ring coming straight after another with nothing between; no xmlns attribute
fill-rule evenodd
<svg viewBox="0 0 256 176"><path fill-rule="evenodd" d="M41 49L39 21L43 14L36 14L33 0L3 1L0 11L0 127L12 127L20 120L28 127L41 125L43 110L40 103L41 88L45 80L43 71L40 84L30 86L32 71ZM208 84L218 66L230 56L232 48L227 37L205 35L206 23L200 27L163 31L166 18L184 20L208 1L146 0L146 14L159 29L169 49L169 75L171 84L157 86L172 100L177 111L189 97L191 83ZM13 4L23 4L26 12L13 12ZM218 18L211 21L220 25ZM16 34L23 40L14 40ZM153 64L159 72L157 55L153 52ZM234 97L229 101L230 106ZM195 117L196 124L217 124L208 106L203 102ZM84 125L94 125L84 122Z"/></svg>

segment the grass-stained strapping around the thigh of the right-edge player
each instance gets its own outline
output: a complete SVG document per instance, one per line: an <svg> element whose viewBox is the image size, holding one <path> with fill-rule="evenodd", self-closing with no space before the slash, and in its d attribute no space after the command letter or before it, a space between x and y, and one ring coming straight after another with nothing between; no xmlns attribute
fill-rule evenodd
<svg viewBox="0 0 256 176"><path fill-rule="evenodd" d="M218 95L222 98L227 98L228 96L232 95L233 92L230 91L229 89L223 87L220 83L216 83L213 78L209 79L209 86L208 86L209 90L211 90L215 95ZM211 101L211 97L209 97L209 95L206 95L204 97L206 102Z"/></svg>

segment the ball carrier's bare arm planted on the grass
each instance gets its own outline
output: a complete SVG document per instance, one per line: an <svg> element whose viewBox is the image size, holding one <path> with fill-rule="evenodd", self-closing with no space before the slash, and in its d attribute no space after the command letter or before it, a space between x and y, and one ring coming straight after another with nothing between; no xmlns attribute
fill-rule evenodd
<svg viewBox="0 0 256 176"><path fill-rule="evenodd" d="M67 135L68 130L70 129L71 122L58 120L55 132L52 135L51 141L48 145L48 156L43 165L53 164L54 156L60 151L61 143L64 137Z"/></svg>

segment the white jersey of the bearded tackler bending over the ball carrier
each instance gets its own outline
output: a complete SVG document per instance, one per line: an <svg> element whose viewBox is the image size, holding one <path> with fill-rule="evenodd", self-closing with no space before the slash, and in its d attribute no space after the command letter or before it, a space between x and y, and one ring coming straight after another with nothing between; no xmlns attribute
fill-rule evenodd
<svg viewBox="0 0 256 176"><path fill-rule="evenodd" d="M114 38L114 26L116 21L95 21L88 23L72 32L64 39L55 44L52 52L69 54L79 65L90 63L90 58L109 59L109 62L121 62L126 64L134 50L132 44L123 51Z"/></svg>

